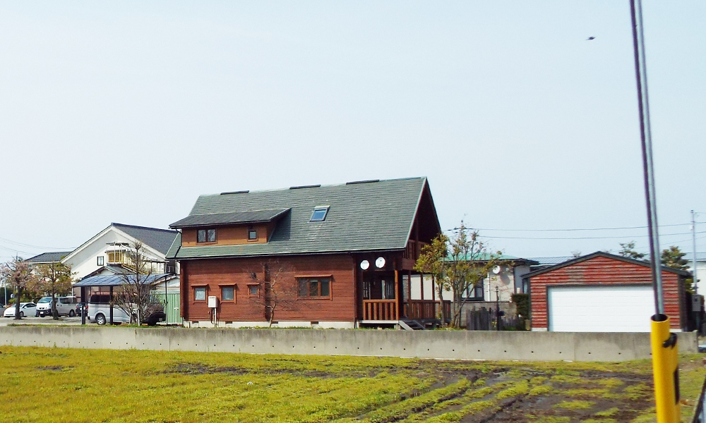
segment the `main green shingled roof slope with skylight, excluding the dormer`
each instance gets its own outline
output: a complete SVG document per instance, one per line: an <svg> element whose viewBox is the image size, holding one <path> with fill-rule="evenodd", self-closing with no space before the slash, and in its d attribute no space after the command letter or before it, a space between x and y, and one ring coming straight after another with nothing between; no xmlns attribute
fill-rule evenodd
<svg viewBox="0 0 706 423"><path fill-rule="evenodd" d="M167 257L187 259L402 250L407 245L425 186L426 178L407 178L201 195L189 216L258 209L291 210L277 223L268 243L181 247L181 236L177 236ZM311 222L309 219L317 206L330 208L325 221ZM438 221L436 224L438 226Z"/></svg>

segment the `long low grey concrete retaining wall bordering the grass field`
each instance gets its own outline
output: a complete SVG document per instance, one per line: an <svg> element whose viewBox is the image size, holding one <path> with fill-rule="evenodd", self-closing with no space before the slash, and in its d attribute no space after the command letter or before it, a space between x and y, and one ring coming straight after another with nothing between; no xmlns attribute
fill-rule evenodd
<svg viewBox="0 0 706 423"><path fill-rule="evenodd" d="M695 333L678 333L678 339L681 353L697 352ZM459 360L650 358L649 333L6 326L0 345Z"/></svg>

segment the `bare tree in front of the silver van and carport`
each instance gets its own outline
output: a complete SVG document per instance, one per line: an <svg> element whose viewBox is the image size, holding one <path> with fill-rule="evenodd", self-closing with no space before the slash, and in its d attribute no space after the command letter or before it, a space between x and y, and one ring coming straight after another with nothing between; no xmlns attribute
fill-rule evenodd
<svg viewBox="0 0 706 423"><path fill-rule="evenodd" d="M160 279L155 277L155 260L145 255L145 246L136 241L127 245L120 275L119 287L114 304L131 316L131 323L138 326L150 319L155 312L162 311L162 305L152 295Z"/></svg>

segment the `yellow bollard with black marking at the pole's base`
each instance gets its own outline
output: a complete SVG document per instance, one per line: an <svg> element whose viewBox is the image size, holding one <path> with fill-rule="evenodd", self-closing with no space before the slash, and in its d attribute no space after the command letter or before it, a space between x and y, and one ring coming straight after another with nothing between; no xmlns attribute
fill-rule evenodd
<svg viewBox="0 0 706 423"><path fill-rule="evenodd" d="M679 363L676 334L669 332L669 317L652 316L652 372L657 423L679 422Z"/></svg>

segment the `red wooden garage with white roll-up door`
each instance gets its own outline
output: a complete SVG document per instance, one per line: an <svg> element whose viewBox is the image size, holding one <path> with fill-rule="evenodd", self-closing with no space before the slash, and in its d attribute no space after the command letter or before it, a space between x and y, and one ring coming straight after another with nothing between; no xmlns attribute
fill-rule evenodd
<svg viewBox="0 0 706 423"><path fill-rule="evenodd" d="M672 331L686 328L687 271L662 266ZM654 290L649 262L594 252L527 274L532 331L649 332Z"/></svg>

